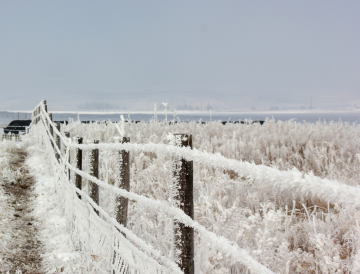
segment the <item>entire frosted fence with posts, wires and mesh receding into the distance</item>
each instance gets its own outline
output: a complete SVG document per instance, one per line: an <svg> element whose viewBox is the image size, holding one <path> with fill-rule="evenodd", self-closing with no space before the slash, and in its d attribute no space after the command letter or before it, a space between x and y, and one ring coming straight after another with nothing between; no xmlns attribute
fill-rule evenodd
<svg viewBox="0 0 360 274"><path fill-rule="evenodd" d="M192 148L191 134L173 134L170 144L130 143L129 138L120 136L115 143L82 143L80 136L73 141L69 133L61 134L60 125L52 122L47 113L46 102L41 101L32 113L30 133L36 135L48 153L55 159L56 175L61 178L57 193L69 205L67 218L71 219L73 233L83 245L107 257L106 267L113 273L194 273L193 234L197 232L201 240L221 251L223 257L232 264L240 263L253 273L273 273L239 248L236 243L208 231L193 220L192 164L200 163L223 170L233 170L243 177L260 180L281 188L298 189L316 194L328 202L342 203L350 208L360 206L360 188L328 179L303 174L297 169L279 170L275 167L226 158ZM63 146L64 152L61 152ZM75 149L75 164L69 162L70 149ZM82 149L91 149L90 174L82 171ZM98 179L98 149L118 151L115 185ZM150 199L129 191L129 152L146 151L168 154L173 157L173 189L175 202ZM72 153L72 152L71 152ZM74 181L70 179L74 172ZM81 189L81 179L90 182L89 194ZM98 205L99 186L116 195L115 217L111 217ZM127 202L141 203L149 210L160 210L173 218L173 257L169 258L145 243L126 228ZM99 217L100 216L100 217Z"/></svg>

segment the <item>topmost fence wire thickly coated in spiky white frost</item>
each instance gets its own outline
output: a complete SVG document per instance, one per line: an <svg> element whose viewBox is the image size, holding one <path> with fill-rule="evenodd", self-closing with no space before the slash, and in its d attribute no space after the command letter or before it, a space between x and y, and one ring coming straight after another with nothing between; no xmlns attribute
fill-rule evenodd
<svg viewBox="0 0 360 274"><path fill-rule="evenodd" d="M42 104L40 104L41 107ZM42 109L42 108L41 108ZM44 112L44 111L43 111ZM46 113L46 112L45 112ZM48 115L45 115L48 122L51 120ZM59 134L56 127L53 130ZM66 139L60 135L60 138L66 142ZM171 135L168 135L171 138ZM67 145L65 143L65 145ZM190 149L188 147L175 147L166 144L138 144L138 143L99 143L95 145L71 144L70 147L75 148L106 148L114 150L137 150L154 152L157 154L169 154L172 156L180 156L186 160L208 165L214 168L221 168L224 170L233 170L243 177L258 180L265 184L279 185L281 189L293 188L301 190L306 194L311 193L328 202L341 203L348 208L360 207L360 187L351 186L337 181L332 181L326 178L315 176L312 172L303 174L295 167L290 170L279 170L276 167L266 165L256 165L255 163L228 159L219 153L208 153L199 151L196 148Z"/></svg>

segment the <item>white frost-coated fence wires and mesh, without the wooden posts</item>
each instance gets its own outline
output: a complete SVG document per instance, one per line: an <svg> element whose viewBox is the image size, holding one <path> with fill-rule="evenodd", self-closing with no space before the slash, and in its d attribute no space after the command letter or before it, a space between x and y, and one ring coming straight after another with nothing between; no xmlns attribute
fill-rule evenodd
<svg viewBox="0 0 360 274"><path fill-rule="evenodd" d="M47 133L49 132L49 127L47 124L52 126L52 121L50 121L50 118L46 114L46 111L44 110L44 107L40 106L40 113L37 114L41 116L41 121L39 124L34 125L33 128L31 127L31 132L34 132L34 134L39 134L46 140ZM89 198L88 195L86 195L83 191L78 190L74 184L70 181L68 182L66 173L67 168L71 170L71 172L75 172L79 176L82 176L83 178L92 181L96 183L98 186L102 187L103 189L106 189L108 191L114 192L116 195L121 196L123 198L126 198L128 200L135 201L139 204L142 204L144 207L148 208L152 211L161 211L169 216L171 216L175 222L182 223L184 226L192 227L194 231L198 234L198 237L201 239L202 242L206 242L208 246L211 246L211 248L216 249L219 253L221 253L221 259L228 261L228 265L236 265L237 263L244 265L246 268L248 268L253 273L272 273L271 270L269 270L264 265L261 265L259 262L254 260L247 251L244 249L241 249L237 246L236 243L230 242L228 239L217 236L216 234L208 231L205 227L201 226L196 221L192 220L191 217L186 215L183 210L180 208L174 206L174 204L168 202L168 201L159 201L147 198L143 195L138 195L133 192L130 192L123 188L118 188L112 185L109 185L98 178L91 176L88 173L83 172L79 168L74 167L67 161L67 155L70 148L75 148L78 150L81 149L112 149L115 151L145 151L145 152L151 152L156 154L167 154L174 158L183 158L187 161L193 161L194 163L198 163L201 165L208 165L214 168L219 168L223 170L233 170L240 176L250 178L252 180L258 180L261 181L264 184L267 185L279 185L281 188L285 189L298 189L302 190L306 193L312 193L316 194L319 198L322 198L328 202L332 203L342 203L345 206L354 208L360 206L360 200L358 199L360 194L360 189L358 187L349 186L343 183L339 183L336 181L328 180L328 179L322 179L317 176L314 176L312 173L303 174L302 172L298 171L297 169L291 169L291 170L279 170L276 167L269 167L265 165L256 165L251 162L245 162L240 160L234 160L226 158L220 154L212 154L207 153L203 151L198 151L195 148L190 149L186 147L177 147L174 145L168 145L168 144L155 144L155 143L146 143L146 144L139 144L139 143L99 143L99 144L80 144L80 143L74 143L70 139L65 138L61 135L61 133L54 128L54 133L59 135L61 138L61 141L63 142L64 146L66 147L66 151L64 155L60 155L60 163L57 163L57 161L54 162L54 166L56 166L56 170L59 172L59 176L65 177L66 182L64 183L67 187L67 189L71 190L68 191L68 193L75 193L71 194L69 197L65 197L69 202L72 203L79 203L85 204L84 210L82 211L76 211L77 214L76 220L73 221L74 227L76 226L77 231L87 231L89 232L88 238L91 238L91 240L83 238L81 242L85 244L88 244L91 248L94 250L100 250L100 252L108 255L108 261L110 261L110 265L108 266L110 269L123 269L122 266L119 265L126 265L126 267L129 267L129 269L138 269L136 268L137 263L140 261L139 253L136 253L134 250L139 251L142 254L142 256L145 256L146 258L152 258L153 260L157 261L159 265L165 266L165 262L167 266L174 267L173 269L176 269L176 271L179 271L179 268L174 263L174 257L168 258L165 256L162 256L159 260L159 257L156 257L154 252L157 252L156 254L160 256L160 253L153 249L150 245L145 244L144 242L141 242L141 240L136 237L135 235L131 234L131 231L126 229L123 225L119 225L118 222L114 219L108 216L108 214L101 209L96 203L93 202L92 199ZM36 133L37 132L37 133ZM45 143L54 142L54 138L51 134L48 134L47 141ZM169 135L169 139L175 140L174 135ZM55 146L55 149L59 149ZM49 153L52 153L51 150L49 150ZM67 168L65 168L67 167ZM62 172L62 173L61 173ZM65 175L61 175L65 174ZM81 195L81 200L77 198L76 192ZM76 199L75 199L76 197ZM85 201L85 203L83 203ZM89 205L89 206L87 206ZM83 206L83 205L82 205ZM86 207L87 206L87 207ZM80 207L80 206L79 206ZM88 211L91 211L89 213L86 213L86 209ZM101 220L105 223L101 222L104 226L110 224L109 230L106 230L108 233L109 231L112 231L115 239L114 241L108 241L108 233L103 232L100 233L100 242L101 245L96 245L94 243L94 239L96 242L96 233L93 231L97 231L95 228L95 225L93 223L98 223L97 221L97 215L94 212L93 208L99 211ZM91 209L91 210L90 210ZM72 216L72 212L69 211L69 215ZM90 221L86 219L87 214L90 215ZM96 216L95 216L96 215ZM79 222L79 219L86 219L86 221L89 223L88 226L91 226L91 229L89 229L87 226L87 230L81 228L80 226L83 225L83 222ZM111 230L111 228L115 227L115 230ZM82 229L82 230L81 230ZM101 229L100 229L101 230ZM105 229L103 229L105 231ZM120 231L121 233L118 233ZM110 233L110 234L111 234ZM121 236L125 235L125 237L121 238ZM131 235L132 237L130 237ZM83 235L81 235L83 236ZM107 242L107 243L106 243ZM113 246L113 242L115 242L115 246ZM138 243L141 242L141 243ZM106 244L105 244L106 243ZM123 244L123 245L122 245ZM119 247L121 246L121 247ZM131 247L132 255L126 256L125 253L120 253L120 249L124 247ZM97 249L96 249L97 248ZM147 248L147 249L146 249ZM145 251L146 249L146 251ZM143 252L141 252L143 251ZM127 254L127 253L126 253ZM148 262L148 265L153 265L153 261ZM130 265L130 266L128 266ZM147 264L146 264L147 265ZM157 264L154 266L155 268L152 269L158 269L156 267L159 267ZM177 267L177 268L176 268ZM115 270L114 270L115 271ZM115 271L115 272L116 272ZM141 271L147 271L148 270L142 270ZM140 271L140 272L141 272ZM166 272L167 270L163 270ZM167 271L169 272L169 271Z"/></svg>

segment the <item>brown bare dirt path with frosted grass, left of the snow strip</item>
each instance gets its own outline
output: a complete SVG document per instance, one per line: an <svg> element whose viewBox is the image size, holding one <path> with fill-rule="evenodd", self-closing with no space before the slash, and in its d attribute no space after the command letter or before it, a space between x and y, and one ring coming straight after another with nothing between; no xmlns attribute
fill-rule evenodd
<svg viewBox="0 0 360 274"><path fill-rule="evenodd" d="M34 182L24 165L25 156L22 149L12 148L7 157L14 176L0 181L0 273L43 273L42 246L32 214Z"/></svg>

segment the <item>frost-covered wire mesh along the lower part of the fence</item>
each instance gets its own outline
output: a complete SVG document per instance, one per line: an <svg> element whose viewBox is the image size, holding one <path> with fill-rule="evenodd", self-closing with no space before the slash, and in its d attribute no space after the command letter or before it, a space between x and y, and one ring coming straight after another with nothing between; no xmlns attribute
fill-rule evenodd
<svg viewBox="0 0 360 274"><path fill-rule="evenodd" d="M32 120L30 134L33 134L39 143L44 145L50 158L53 159L52 164L58 177L57 193L63 200L64 213L69 219L74 239L80 243L80 248L105 256L103 268L112 270L113 273L181 273L182 271L175 262L153 249L99 207L94 198L96 194L88 195L81 190L81 177L91 181L92 186L100 185L96 174L97 170L94 168L96 155L92 157L91 174L82 172L80 170L81 162L80 166L79 162L76 165L80 169L68 162L71 141L62 136L52 123L43 102L35 108ZM51 127L54 131L53 135ZM59 149L56 136L62 140L63 146L66 148L65 153ZM78 138L77 141L79 140L82 141ZM93 148L95 151L96 149L96 147ZM78 148L76 150L81 151ZM96 154L95 151L93 154ZM81 154L78 153L78 155ZM82 157L79 156L79 158ZM76 174L75 178L79 188L74 185L72 180L68 179L69 170Z"/></svg>

